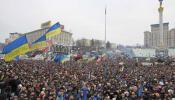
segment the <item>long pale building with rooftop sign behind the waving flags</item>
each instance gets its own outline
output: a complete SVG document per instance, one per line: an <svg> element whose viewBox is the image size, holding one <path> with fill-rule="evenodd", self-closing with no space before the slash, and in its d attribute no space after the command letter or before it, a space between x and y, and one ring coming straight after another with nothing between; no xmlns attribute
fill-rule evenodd
<svg viewBox="0 0 175 100"><path fill-rule="evenodd" d="M31 44L32 42L36 41L39 37L41 37L43 34L47 32L49 27L51 26L51 22L48 21L46 23L41 24L41 28L31 31L31 32L26 32L26 33L10 33L9 38L5 40L5 43L8 44L15 39L19 38L22 35L26 35L28 43ZM64 26L61 25L62 32L54 37L49 38L48 40L52 41L52 44L56 45L64 45L64 46L71 46L73 43L73 38L72 38L72 33L65 31Z"/></svg>

